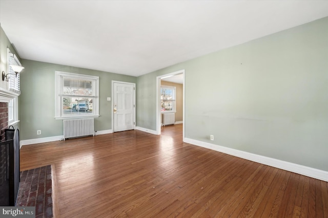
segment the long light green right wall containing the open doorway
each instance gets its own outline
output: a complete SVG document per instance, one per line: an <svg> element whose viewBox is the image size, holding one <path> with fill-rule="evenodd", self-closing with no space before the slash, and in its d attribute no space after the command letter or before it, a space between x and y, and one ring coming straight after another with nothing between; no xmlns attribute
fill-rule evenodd
<svg viewBox="0 0 328 218"><path fill-rule="evenodd" d="M187 138L328 171L328 17L138 77L138 126L182 69Z"/></svg>

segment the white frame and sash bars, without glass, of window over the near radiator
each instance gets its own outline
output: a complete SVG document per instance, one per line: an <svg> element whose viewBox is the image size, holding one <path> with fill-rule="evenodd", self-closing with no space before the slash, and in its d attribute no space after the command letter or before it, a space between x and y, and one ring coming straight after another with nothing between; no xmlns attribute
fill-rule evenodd
<svg viewBox="0 0 328 218"><path fill-rule="evenodd" d="M61 80L65 78L69 79L79 79L79 80L92 80L95 84L95 93L92 96L79 95L74 96L74 98L88 97L92 98L92 114L69 114L65 115L63 113L63 98L68 97L68 95L61 94L64 88ZM99 117L99 77L91 76L86 74L68 73L55 71L55 119L72 119L72 118L92 118Z"/></svg>

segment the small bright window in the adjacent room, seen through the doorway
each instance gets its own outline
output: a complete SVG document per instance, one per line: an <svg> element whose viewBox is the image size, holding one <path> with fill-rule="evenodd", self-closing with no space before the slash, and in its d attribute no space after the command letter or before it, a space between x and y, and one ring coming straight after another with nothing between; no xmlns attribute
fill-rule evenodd
<svg viewBox="0 0 328 218"><path fill-rule="evenodd" d="M175 112L175 87L160 86L161 112Z"/></svg>

